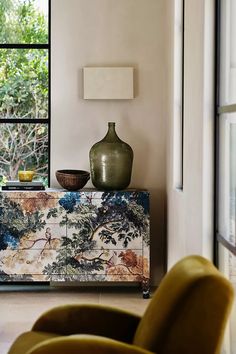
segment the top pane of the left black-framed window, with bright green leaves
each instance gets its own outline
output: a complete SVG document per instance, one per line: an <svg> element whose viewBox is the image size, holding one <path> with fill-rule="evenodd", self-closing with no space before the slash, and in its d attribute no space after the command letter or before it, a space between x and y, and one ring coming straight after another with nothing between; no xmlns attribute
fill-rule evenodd
<svg viewBox="0 0 236 354"><path fill-rule="evenodd" d="M48 43L48 0L0 0L0 43Z"/></svg>

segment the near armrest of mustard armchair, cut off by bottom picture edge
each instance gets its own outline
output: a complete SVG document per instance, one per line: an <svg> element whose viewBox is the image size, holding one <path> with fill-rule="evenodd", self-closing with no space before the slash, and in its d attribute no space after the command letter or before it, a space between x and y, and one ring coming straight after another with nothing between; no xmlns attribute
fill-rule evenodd
<svg viewBox="0 0 236 354"><path fill-rule="evenodd" d="M153 354L135 345L97 336L69 336L46 340L26 354Z"/></svg>

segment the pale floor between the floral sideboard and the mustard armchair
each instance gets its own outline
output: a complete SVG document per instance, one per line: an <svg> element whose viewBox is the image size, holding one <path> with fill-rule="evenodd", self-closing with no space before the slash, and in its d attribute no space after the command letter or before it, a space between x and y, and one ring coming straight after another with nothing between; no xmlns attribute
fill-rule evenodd
<svg viewBox="0 0 236 354"><path fill-rule="evenodd" d="M142 314L149 300L144 300L137 288L0 285L0 353L6 354L14 339L28 331L43 311L66 303L119 306Z"/></svg>

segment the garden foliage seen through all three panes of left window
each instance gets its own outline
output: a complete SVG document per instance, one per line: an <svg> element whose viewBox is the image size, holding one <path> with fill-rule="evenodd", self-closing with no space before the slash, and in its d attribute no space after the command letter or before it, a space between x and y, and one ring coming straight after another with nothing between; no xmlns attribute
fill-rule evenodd
<svg viewBox="0 0 236 354"><path fill-rule="evenodd" d="M48 43L47 15L38 4L0 0L0 44ZM0 49L0 175L3 181L14 180L18 169L34 169L45 181L47 126L1 124L3 118L48 118L48 49Z"/></svg>

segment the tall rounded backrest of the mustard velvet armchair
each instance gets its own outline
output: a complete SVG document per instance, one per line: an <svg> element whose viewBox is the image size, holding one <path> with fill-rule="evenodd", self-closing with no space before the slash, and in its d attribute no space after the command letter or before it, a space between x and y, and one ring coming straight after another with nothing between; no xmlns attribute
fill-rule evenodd
<svg viewBox="0 0 236 354"><path fill-rule="evenodd" d="M220 353L233 294L210 261L185 257L161 281L133 343L158 354Z"/></svg>

